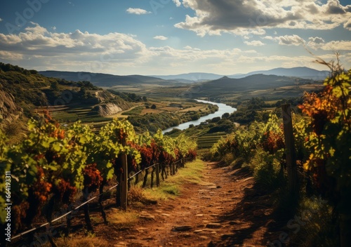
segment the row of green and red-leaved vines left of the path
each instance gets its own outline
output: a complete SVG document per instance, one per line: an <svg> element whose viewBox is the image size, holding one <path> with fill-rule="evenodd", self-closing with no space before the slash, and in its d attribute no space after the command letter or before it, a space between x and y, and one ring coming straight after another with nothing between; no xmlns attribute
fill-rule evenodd
<svg viewBox="0 0 351 247"><path fill-rule="evenodd" d="M148 175L152 186L155 175L158 184L159 175L164 180L169 173L175 173L176 168L184 166L185 159L189 161L197 156L194 140L184 135L168 138L161 130L154 135L136 135L126 120L114 119L95 134L79 122L62 126L45 113L41 118L31 119L27 128L25 139L12 146L6 145L6 136L0 133L0 205L6 208L11 201L12 239L22 233L28 243L34 243L34 232L49 225L32 229L33 222L39 217L46 218L47 222L57 220L55 216L60 208L67 208L64 213L68 215L71 210L84 207L87 229L93 232L88 201L98 198L102 218L107 222L101 203L104 191L117 188L116 203L123 206L119 185L124 183L124 177L133 176L138 181L143 171L143 187ZM11 174L11 196L6 197L4 178L8 174ZM117 180L114 186L112 179ZM105 189L107 187L110 189ZM99 195L91 198L89 195L97 190ZM83 203L72 208L77 197L81 197ZM0 221L5 229L6 211L1 211ZM67 217L66 236L70 225ZM50 241L55 246L51 238ZM6 241L2 244L6 245Z"/></svg>

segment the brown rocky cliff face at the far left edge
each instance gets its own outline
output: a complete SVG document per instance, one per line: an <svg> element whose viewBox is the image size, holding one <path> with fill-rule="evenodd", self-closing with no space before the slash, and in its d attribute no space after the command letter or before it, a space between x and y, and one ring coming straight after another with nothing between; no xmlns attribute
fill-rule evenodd
<svg viewBox="0 0 351 247"><path fill-rule="evenodd" d="M0 91L0 123L11 123L23 114L23 109L15 104L11 93Z"/></svg>

